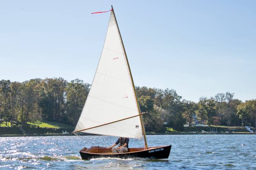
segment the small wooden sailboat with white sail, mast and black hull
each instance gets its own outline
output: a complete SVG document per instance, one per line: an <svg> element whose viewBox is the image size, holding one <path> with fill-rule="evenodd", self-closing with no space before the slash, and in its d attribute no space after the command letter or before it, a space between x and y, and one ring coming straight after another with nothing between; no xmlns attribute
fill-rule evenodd
<svg viewBox="0 0 256 170"><path fill-rule="evenodd" d="M79 121L72 133L83 132L135 139L144 137L145 146L129 148L126 153L112 153L111 148L107 147L85 147L79 151L80 155L82 159L168 158L171 145L148 147L142 119L145 113L140 112L113 6L110 12L107 35L97 70Z"/></svg>

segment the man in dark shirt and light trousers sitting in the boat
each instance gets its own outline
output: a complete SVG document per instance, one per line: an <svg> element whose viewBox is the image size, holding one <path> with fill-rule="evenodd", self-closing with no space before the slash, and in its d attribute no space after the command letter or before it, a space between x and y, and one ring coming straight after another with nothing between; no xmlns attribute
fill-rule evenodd
<svg viewBox="0 0 256 170"><path fill-rule="evenodd" d="M129 144L129 138L118 138L116 143L113 144L110 147L107 147L107 149L112 148L112 152L113 153L124 153L128 151L128 144ZM113 148L116 145L118 145L117 148Z"/></svg>

